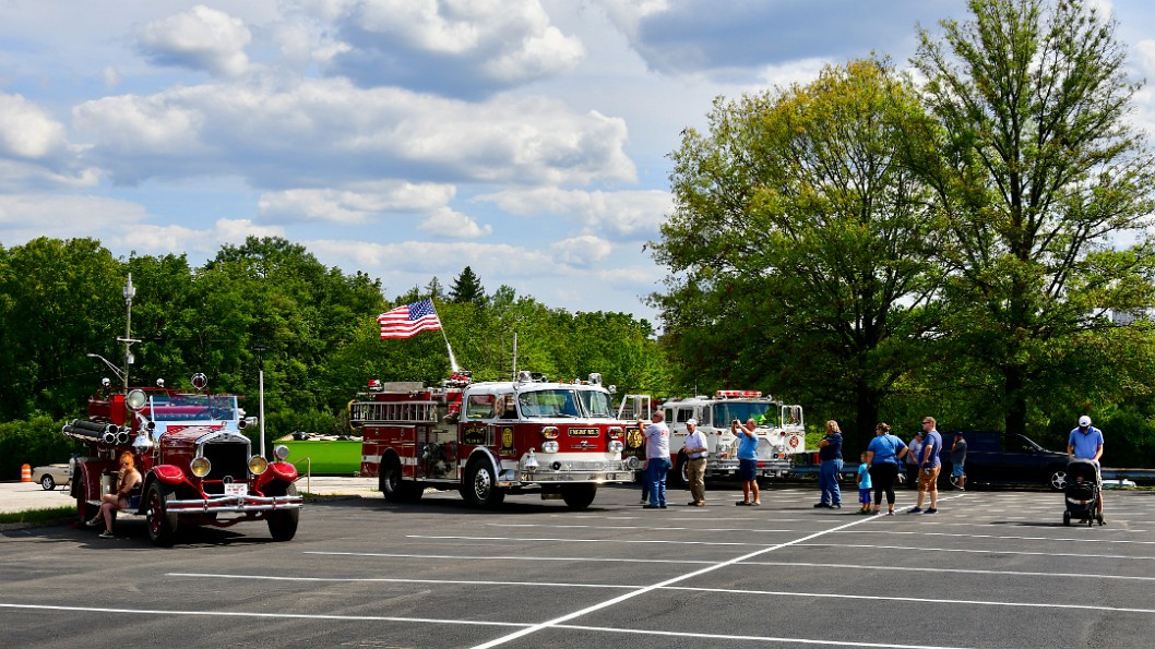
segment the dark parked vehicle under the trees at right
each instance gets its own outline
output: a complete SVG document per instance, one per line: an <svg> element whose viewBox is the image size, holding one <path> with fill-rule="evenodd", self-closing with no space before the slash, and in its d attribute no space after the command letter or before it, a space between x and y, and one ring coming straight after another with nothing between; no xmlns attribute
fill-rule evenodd
<svg viewBox="0 0 1155 649"><path fill-rule="evenodd" d="M1048 450L1035 440L997 431L962 431L967 439L967 484L1045 485L1063 491L1067 484L1067 454ZM955 433L942 433L940 480L955 484L951 475L951 445Z"/></svg>

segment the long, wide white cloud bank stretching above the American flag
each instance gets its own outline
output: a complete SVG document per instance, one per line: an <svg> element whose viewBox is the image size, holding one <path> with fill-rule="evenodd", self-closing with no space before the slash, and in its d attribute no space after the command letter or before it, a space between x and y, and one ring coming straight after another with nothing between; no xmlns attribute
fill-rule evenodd
<svg viewBox="0 0 1155 649"><path fill-rule="evenodd" d="M286 90L206 84L73 110L90 159L121 182L237 174L258 187L415 181L633 181L621 119L547 98L469 104L400 89L305 80ZM304 151L307 151L305 154Z"/></svg>

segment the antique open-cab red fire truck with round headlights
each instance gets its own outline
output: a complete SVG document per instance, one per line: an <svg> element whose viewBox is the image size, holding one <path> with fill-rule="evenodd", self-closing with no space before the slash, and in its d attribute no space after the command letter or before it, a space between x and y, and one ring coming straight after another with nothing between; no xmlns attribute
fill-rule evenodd
<svg viewBox="0 0 1155 649"><path fill-rule="evenodd" d="M156 545L171 546L184 525L263 520L274 540L297 534L301 498L293 485L297 469L284 462L288 449L278 447L274 462L254 455L240 432L252 419L241 416L236 396L204 391L207 382L196 374L194 390L158 386L90 398L88 418L65 425L64 434L89 447L73 467L82 521L116 490L117 461L127 450L142 480L128 512L120 513L146 516ZM107 385L105 379L103 391Z"/></svg>

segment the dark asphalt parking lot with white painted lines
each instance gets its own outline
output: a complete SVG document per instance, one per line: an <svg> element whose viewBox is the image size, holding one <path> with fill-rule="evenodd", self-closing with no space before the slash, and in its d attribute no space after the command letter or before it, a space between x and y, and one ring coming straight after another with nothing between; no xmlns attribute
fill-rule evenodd
<svg viewBox="0 0 1155 649"><path fill-rule="evenodd" d="M849 490L847 490L849 492ZM849 492L852 493L852 492ZM154 549L142 520L0 532L7 647L1113 647L1155 637L1155 493L1109 492L1064 527L1061 494L944 493L937 516L813 509L806 485L643 510L511 497L474 510L375 493ZM911 492L900 492L909 506ZM81 639L83 636L83 639Z"/></svg>

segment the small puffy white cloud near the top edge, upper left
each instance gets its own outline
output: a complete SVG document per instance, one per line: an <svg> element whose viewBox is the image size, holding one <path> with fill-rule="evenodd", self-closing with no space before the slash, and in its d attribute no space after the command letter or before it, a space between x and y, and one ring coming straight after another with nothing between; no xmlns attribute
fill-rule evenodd
<svg viewBox="0 0 1155 649"><path fill-rule="evenodd" d="M154 64L203 69L222 76L248 70L245 47L253 35L244 21L198 5L149 22L137 33L137 46Z"/></svg>

